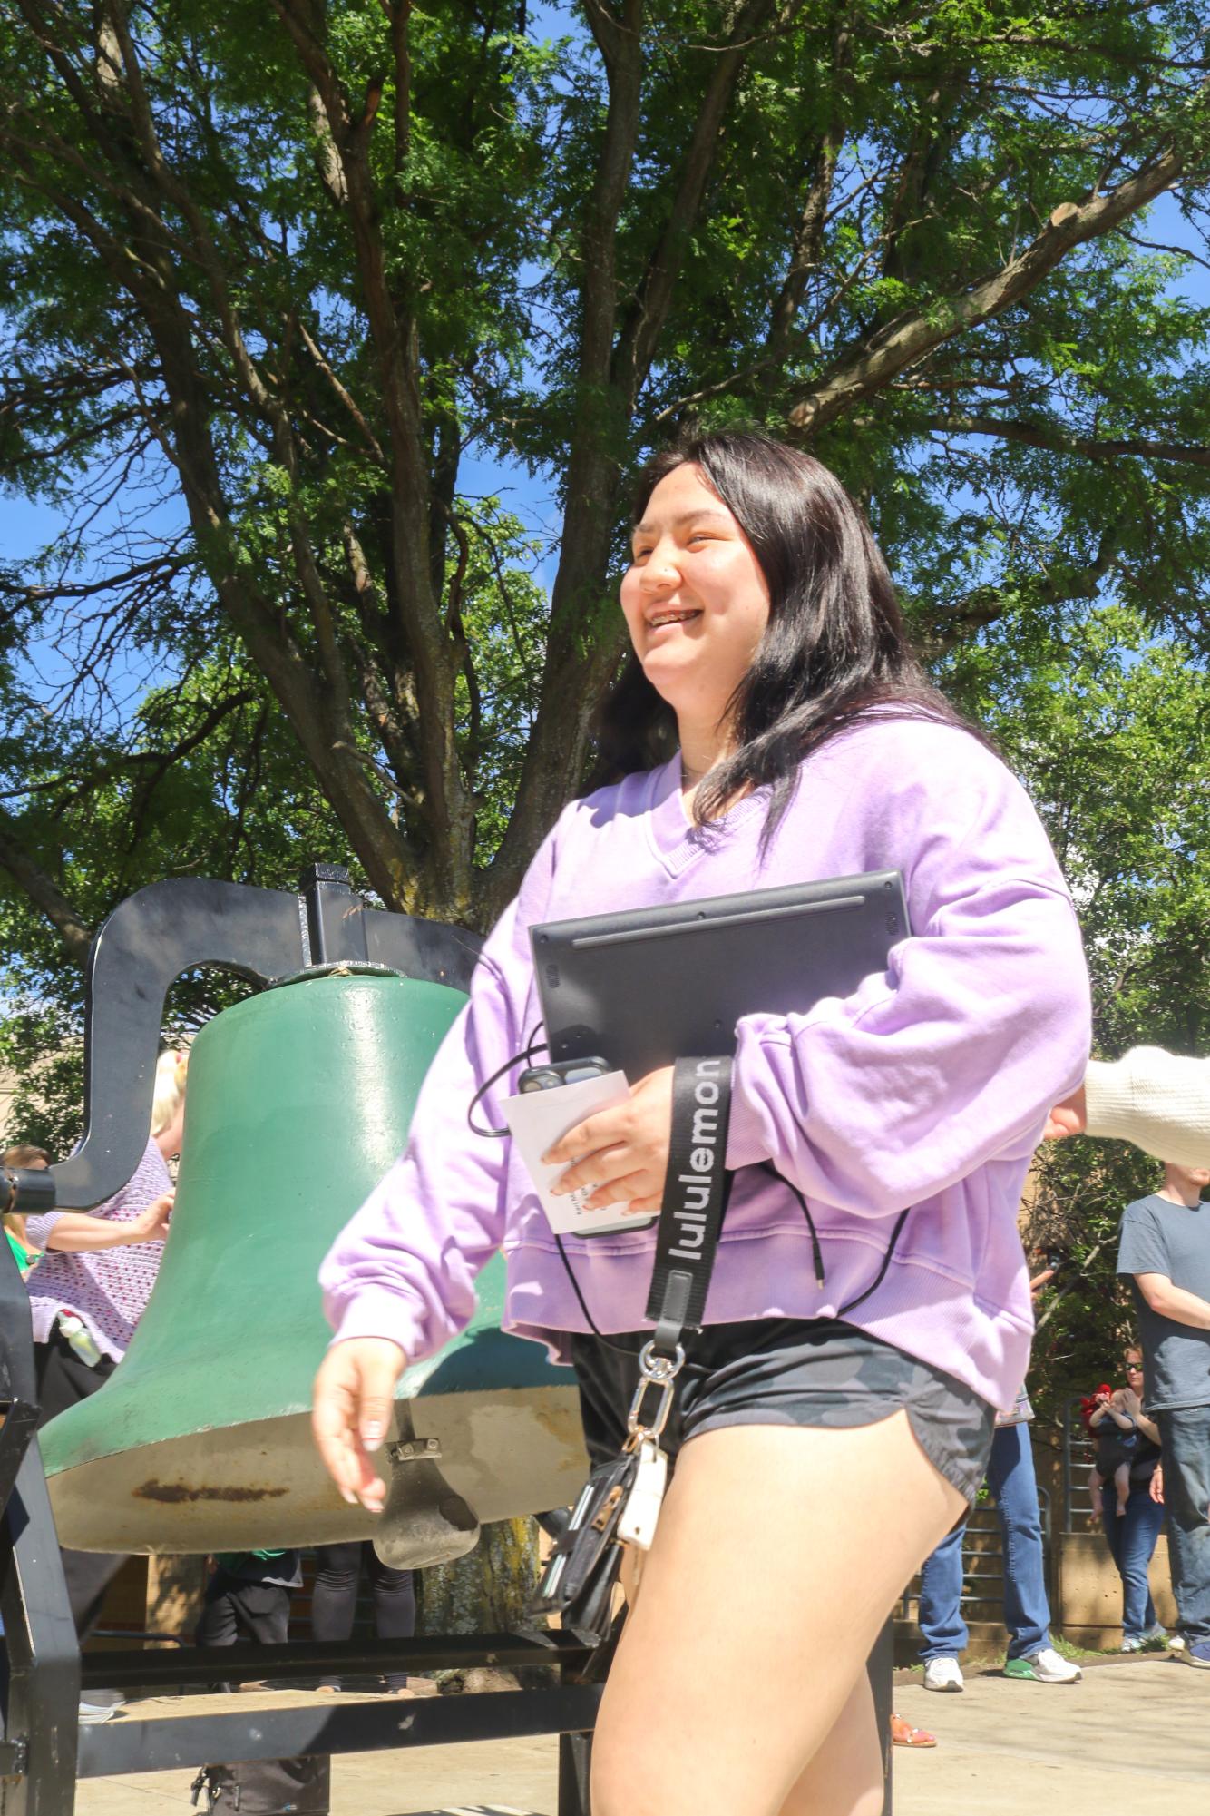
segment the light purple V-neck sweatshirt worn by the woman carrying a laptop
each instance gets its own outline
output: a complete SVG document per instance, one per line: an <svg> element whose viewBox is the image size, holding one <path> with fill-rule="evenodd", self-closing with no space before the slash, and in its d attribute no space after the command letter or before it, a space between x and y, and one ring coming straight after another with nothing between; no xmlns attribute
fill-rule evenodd
<svg viewBox="0 0 1210 1816"><path fill-rule="evenodd" d="M853 1322L1012 1406L1032 1335L1018 1202L1047 1110L1088 1059L1079 928L1025 790L969 734L883 714L802 765L762 861L767 792L693 828L678 777L673 759L573 801L542 843L424 1081L405 1155L323 1264L337 1338L432 1355L468 1322L475 1275L499 1248L506 1329L566 1360L562 1333L586 1327L521 1157L466 1128L479 1081L541 1019L533 923L900 870L912 937L885 973L737 1030L727 1166L773 1160L805 1193L825 1284L800 1206L749 1170L706 1320L833 1317L874 1280L896 1213L912 1206ZM495 1126L513 1088L510 1073L484 1099ZM640 1329L655 1226L564 1242L599 1329Z"/></svg>

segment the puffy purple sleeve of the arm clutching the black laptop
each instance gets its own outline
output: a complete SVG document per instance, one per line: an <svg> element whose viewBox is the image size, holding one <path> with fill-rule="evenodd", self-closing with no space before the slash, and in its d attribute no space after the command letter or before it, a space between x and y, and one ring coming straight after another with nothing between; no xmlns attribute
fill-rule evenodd
<svg viewBox="0 0 1210 1816"><path fill-rule="evenodd" d="M889 1217L1032 1151L1083 1077L1090 1002L1025 790L956 730L873 745L853 808L874 803L867 868L903 873L912 935L851 997L740 1021L727 1166L771 1160L807 1197Z"/></svg>

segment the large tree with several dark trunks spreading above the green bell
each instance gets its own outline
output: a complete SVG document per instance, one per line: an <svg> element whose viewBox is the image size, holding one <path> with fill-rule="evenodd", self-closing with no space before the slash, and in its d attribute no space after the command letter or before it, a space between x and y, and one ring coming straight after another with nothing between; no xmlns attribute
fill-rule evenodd
<svg viewBox="0 0 1210 1816"><path fill-rule="evenodd" d="M69 952L82 794L249 712L385 903L488 923L582 779L628 476L689 416L834 465L936 654L1110 583L1205 636L1206 314L1147 229L1206 202L1183 0L0 18L0 474L76 507L0 576L5 636L18 677L80 661L53 725L18 690L0 863ZM517 536L468 458L561 510L503 668ZM183 739L131 721L140 661L192 688Z"/></svg>

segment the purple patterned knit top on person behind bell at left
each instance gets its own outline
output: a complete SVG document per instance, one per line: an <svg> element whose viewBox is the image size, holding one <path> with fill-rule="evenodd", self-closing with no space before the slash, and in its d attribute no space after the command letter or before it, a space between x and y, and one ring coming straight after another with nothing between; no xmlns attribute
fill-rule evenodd
<svg viewBox="0 0 1210 1816"><path fill-rule="evenodd" d="M149 1140L143 1159L122 1191L114 1191L112 1199L105 1199L89 1215L129 1224L171 1189L172 1177L163 1155L154 1140ZM60 1217L62 1211L29 1217L25 1220L29 1244L45 1248ZM93 1333L102 1355L120 1362L151 1298L161 1255L163 1242L131 1242L116 1249L94 1249L89 1255L65 1255L62 1249L42 1255L29 1275L34 1342L49 1342L54 1318L60 1311L71 1309Z"/></svg>

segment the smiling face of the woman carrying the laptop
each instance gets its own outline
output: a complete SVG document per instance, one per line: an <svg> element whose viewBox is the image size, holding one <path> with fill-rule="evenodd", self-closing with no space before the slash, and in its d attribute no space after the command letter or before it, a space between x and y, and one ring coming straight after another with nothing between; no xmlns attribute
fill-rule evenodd
<svg viewBox="0 0 1210 1816"><path fill-rule="evenodd" d="M684 463L651 492L622 579L626 628L677 719L720 725L769 623L769 588L744 530Z"/></svg>

